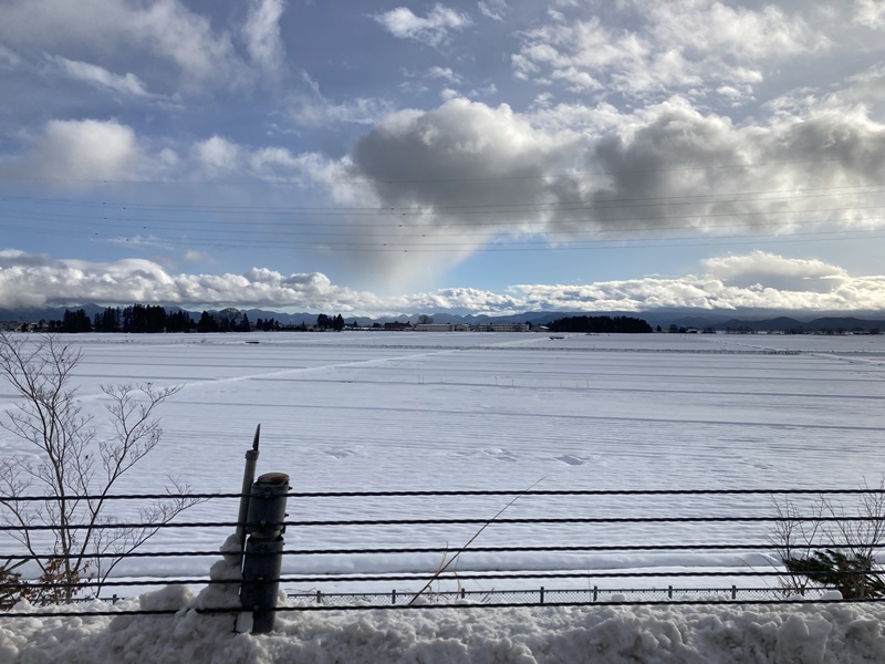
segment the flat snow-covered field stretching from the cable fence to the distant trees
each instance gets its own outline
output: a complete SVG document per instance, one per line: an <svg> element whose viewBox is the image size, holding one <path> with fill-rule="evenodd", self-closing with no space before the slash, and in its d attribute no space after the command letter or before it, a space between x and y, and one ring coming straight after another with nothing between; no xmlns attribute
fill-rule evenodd
<svg viewBox="0 0 885 664"><path fill-rule="evenodd" d="M110 433L101 384L184 385L163 406L160 448L125 477L118 492L162 490L169 474L197 491L236 492L259 423L259 473L289 474L295 491L856 488L864 477L877 484L885 473L885 336L554 340L532 333L364 332L64 340L82 346L75 380L85 407L96 414L100 435ZM0 387L0 404L10 398L7 386ZM7 432L0 433L0 446L3 454L21 450ZM289 512L293 520L490 518L508 501L300 499L290 501ZM115 507L125 517L136 505ZM759 496L527 497L503 516L751 516L771 513L770 507ZM191 509L186 520L232 521L236 513L236 500L216 500ZM288 541L314 549L458 548L476 529L311 527L290 530ZM766 532L766 526L710 523L496 525L476 544L740 543L763 541ZM226 536L218 529L173 529L149 548L180 550L186 543L189 550L217 550ZM438 563L436 554L326 556L289 558L283 571L420 572ZM748 563L766 567L758 551L749 551L464 556L459 570L746 571ZM205 575L208 564L194 558L140 559L121 573ZM727 581L722 585L730 585ZM709 587L709 580L699 584Z"/></svg>

